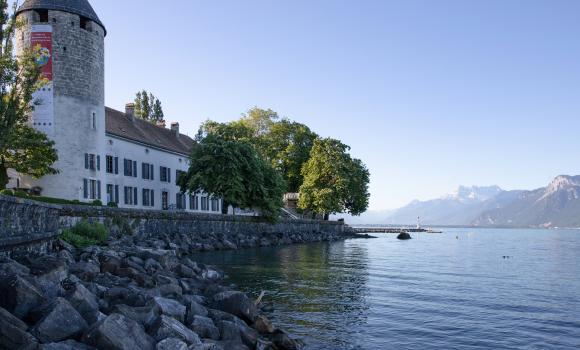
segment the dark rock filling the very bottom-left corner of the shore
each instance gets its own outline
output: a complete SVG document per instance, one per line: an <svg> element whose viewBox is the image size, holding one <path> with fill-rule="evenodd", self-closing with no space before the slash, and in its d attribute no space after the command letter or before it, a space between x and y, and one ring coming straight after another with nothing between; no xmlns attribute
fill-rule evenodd
<svg viewBox="0 0 580 350"><path fill-rule="evenodd" d="M26 323L0 308L0 349L36 349L38 340L27 329Z"/></svg>

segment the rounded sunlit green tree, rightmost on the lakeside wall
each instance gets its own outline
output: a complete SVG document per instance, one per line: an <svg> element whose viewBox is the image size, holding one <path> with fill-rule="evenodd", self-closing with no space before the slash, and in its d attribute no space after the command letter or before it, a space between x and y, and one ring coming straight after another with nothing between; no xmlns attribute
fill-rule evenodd
<svg viewBox="0 0 580 350"><path fill-rule="evenodd" d="M359 159L353 159L350 147L330 138L317 139L310 159L302 168L298 206L327 217L347 212L360 215L368 208L370 174Z"/></svg>

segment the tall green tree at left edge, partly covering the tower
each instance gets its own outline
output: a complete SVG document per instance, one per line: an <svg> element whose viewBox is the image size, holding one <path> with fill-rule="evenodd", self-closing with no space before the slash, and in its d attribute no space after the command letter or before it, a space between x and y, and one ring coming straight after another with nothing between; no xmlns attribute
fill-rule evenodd
<svg viewBox="0 0 580 350"><path fill-rule="evenodd" d="M7 9L8 2L0 0L0 189L8 184L9 168L36 178L58 172L53 168L58 159L54 142L28 125L39 103L33 103L32 94L46 84L35 61L39 48L15 57L14 35L22 24Z"/></svg>

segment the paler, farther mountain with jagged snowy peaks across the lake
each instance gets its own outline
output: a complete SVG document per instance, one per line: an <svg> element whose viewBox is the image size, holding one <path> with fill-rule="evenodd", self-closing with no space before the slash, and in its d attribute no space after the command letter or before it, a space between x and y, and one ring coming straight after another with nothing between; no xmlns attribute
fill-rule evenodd
<svg viewBox="0 0 580 350"><path fill-rule="evenodd" d="M438 199L415 200L395 210L386 218L386 223L415 224L419 216L424 225L469 225L482 212L501 208L516 195L498 186L460 186L455 192Z"/></svg>

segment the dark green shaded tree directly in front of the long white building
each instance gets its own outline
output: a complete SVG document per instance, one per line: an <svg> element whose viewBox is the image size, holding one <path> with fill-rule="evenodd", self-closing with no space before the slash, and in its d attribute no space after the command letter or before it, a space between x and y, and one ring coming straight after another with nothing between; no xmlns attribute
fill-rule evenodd
<svg viewBox="0 0 580 350"><path fill-rule="evenodd" d="M223 124L213 126L227 129ZM252 145L202 131L197 141L190 167L179 179L183 192L203 190L223 198L224 206L258 209L269 220L278 218L284 180Z"/></svg>

